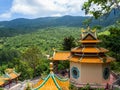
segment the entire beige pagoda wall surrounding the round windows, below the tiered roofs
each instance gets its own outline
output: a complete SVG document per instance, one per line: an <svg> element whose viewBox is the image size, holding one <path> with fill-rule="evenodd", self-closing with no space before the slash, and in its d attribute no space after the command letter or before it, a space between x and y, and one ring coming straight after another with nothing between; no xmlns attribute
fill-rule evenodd
<svg viewBox="0 0 120 90"><path fill-rule="evenodd" d="M78 79L73 78L71 69L72 67L77 67L80 71L80 76ZM84 63L75 63L70 62L70 80L74 81L75 83L107 83L109 82L108 79L103 78L103 71L104 68L108 67L109 64L84 64Z"/></svg>

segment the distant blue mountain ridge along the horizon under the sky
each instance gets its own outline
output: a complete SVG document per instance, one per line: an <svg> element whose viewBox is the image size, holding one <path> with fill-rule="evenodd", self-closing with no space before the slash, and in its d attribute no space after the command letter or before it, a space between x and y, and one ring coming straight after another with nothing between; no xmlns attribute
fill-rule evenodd
<svg viewBox="0 0 120 90"><path fill-rule="evenodd" d="M116 21L120 20L120 11L118 11L116 14L114 14L114 11L112 11L109 15L102 16L97 20L93 17L62 16L36 19L18 18L11 21L1 21L0 37L30 33L47 27L86 27L83 22L88 19L90 20L90 27L106 27L113 25L116 23Z"/></svg>

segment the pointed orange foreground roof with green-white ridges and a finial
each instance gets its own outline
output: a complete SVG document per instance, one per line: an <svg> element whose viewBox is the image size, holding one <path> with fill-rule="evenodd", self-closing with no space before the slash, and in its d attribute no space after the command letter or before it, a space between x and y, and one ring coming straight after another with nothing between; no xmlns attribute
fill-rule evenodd
<svg viewBox="0 0 120 90"><path fill-rule="evenodd" d="M69 80L61 79L53 73L53 63L50 63L49 75L33 85L32 90L69 90Z"/></svg>

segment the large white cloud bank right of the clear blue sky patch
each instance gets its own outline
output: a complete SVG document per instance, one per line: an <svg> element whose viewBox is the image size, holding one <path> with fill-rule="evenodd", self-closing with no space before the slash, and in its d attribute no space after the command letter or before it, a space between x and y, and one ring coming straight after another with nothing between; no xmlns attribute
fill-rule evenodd
<svg viewBox="0 0 120 90"><path fill-rule="evenodd" d="M80 12L85 0L14 0L12 13L33 16L65 15ZM79 14L80 15L80 14Z"/></svg>

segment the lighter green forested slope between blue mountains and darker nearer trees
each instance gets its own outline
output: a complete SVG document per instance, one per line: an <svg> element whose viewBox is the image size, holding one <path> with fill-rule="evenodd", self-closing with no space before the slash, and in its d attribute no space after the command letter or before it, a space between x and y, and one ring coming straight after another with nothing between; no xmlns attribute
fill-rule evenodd
<svg viewBox="0 0 120 90"><path fill-rule="evenodd" d="M36 32L3 38L4 48L25 50L30 46L38 46L42 51L48 52L52 48L61 49L63 39L73 36L80 38L80 28L78 27L53 27L39 29Z"/></svg>

